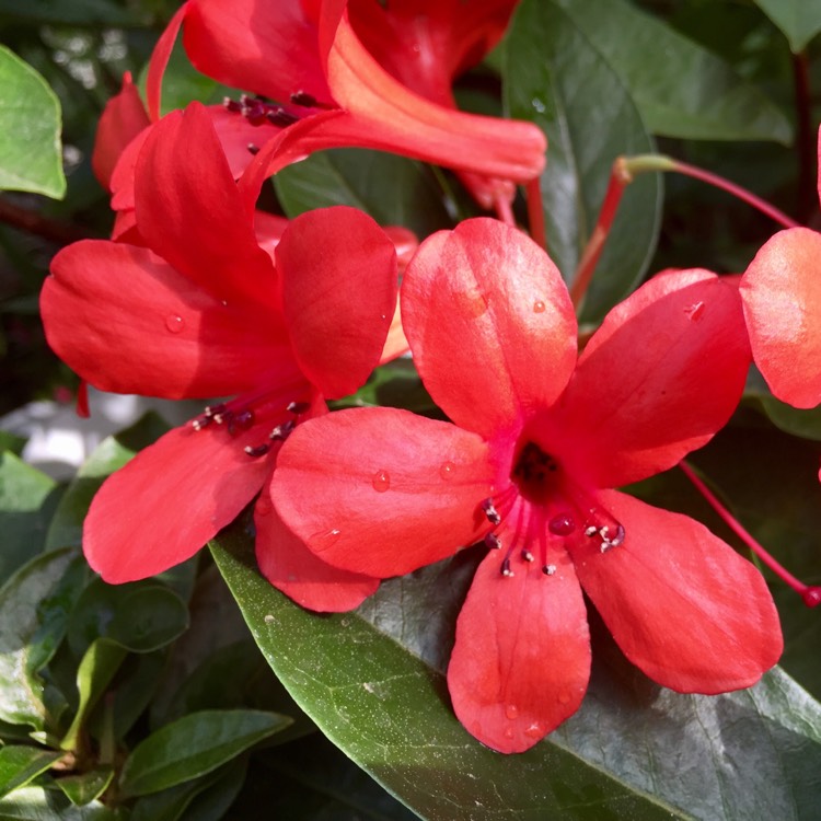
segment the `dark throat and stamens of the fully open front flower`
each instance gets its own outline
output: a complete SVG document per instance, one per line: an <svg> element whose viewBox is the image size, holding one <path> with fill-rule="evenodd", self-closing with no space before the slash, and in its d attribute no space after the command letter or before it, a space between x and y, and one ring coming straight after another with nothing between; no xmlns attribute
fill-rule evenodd
<svg viewBox="0 0 821 821"><path fill-rule="evenodd" d="M536 555L542 573L553 576L551 555L566 540L594 539L602 553L624 542L622 524L530 440L517 449L510 483L481 507L492 525L485 545L505 552L500 571L506 577L516 574L517 562L532 563Z"/></svg>

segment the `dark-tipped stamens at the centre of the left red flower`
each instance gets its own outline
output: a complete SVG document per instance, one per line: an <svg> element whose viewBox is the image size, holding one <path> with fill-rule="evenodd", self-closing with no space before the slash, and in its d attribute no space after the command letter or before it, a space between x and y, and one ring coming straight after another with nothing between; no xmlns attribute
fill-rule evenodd
<svg viewBox="0 0 821 821"><path fill-rule="evenodd" d="M271 426L268 436L258 444L246 444L243 450L253 459L270 452L271 448L281 444L297 427L300 416L308 413L308 402L290 402L285 409L280 404L271 403L267 397L239 397L218 405L208 405L192 421L194 430L205 430L211 425L224 426L230 437L236 438L254 427Z"/></svg>

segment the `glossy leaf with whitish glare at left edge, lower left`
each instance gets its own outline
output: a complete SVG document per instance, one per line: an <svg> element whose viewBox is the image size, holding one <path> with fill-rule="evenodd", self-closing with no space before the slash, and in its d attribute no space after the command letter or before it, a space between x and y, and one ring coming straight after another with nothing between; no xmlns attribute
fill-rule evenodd
<svg viewBox="0 0 821 821"><path fill-rule="evenodd" d="M59 586L76 554L55 551L18 570L0 589L0 719L46 726L43 682L34 672L42 656L32 647L39 628L38 604Z"/></svg>

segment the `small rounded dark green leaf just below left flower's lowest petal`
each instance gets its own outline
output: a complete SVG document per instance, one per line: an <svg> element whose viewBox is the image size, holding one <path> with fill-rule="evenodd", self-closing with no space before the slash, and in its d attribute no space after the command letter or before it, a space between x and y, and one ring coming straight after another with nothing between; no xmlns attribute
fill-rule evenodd
<svg viewBox="0 0 821 821"><path fill-rule="evenodd" d="M68 639L77 654L97 637L132 652L150 652L171 644L188 626L185 602L153 580L106 585L95 579L71 614Z"/></svg>

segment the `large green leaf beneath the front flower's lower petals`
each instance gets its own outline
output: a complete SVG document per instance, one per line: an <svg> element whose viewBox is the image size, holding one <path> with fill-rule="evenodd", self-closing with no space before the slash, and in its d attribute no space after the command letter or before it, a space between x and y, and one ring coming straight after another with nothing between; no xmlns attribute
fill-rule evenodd
<svg viewBox="0 0 821 821"><path fill-rule="evenodd" d="M817 809L821 708L783 672L749 691L680 695L597 629L579 713L527 753L499 755L461 728L441 672L476 552L383 583L358 612L317 616L259 576L241 525L211 550L297 702L423 818L786 820Z"/></svg>

